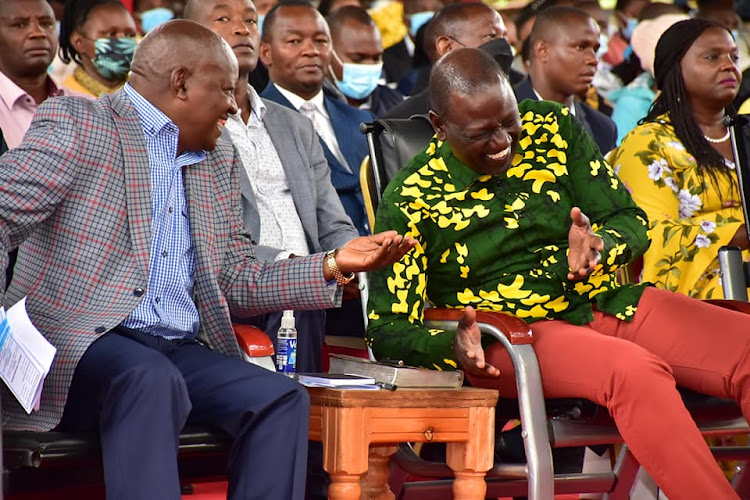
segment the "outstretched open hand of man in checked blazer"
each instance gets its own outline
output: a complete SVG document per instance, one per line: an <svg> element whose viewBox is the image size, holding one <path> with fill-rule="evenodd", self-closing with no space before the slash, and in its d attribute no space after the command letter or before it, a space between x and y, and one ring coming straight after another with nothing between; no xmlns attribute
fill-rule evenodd
<svg viewBox="0 0 750 500"><path fill-rule="evenodd" d="M360 236L339 249L336 265L342 274L380 269L401 260L416 244L411 236L404 237L396 231ZM324 270L326 279L331 279L328 266Z"/></svg>

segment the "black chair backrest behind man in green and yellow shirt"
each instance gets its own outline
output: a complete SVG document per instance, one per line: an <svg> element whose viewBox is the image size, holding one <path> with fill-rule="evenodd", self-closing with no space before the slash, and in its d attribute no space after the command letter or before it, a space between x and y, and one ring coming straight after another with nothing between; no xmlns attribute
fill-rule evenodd
<svg viewBox="0 0 750 500"><path fill-rule="evenodd" d="M365 205L370 204L369 215L369 208L373 214L377 211L383 191L396 172L427 147L435 132L426 115L376 120L363 123L360 129L367 136L370 153L363 162L365 172L360 173ZM370 227L372 223L371 220Z"/></svg>

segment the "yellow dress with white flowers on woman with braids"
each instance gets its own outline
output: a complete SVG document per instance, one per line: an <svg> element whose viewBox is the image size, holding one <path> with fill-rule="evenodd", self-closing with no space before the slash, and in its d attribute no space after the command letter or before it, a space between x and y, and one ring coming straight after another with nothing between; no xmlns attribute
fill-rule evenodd
<svg viewBox="0 0 750 500"><path fill-rule="evenodd" d="M744 221L734 164L726 162L730 175L718 182L701 177L667 115L637 126L608 159L651 223L641 279L690 297L722 298L718 251Z"/></svg>

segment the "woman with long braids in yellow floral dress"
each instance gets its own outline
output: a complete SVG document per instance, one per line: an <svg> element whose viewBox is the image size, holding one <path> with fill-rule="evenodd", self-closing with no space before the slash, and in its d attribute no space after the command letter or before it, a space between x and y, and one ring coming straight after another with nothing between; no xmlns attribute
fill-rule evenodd
<svg viewBox="0 0 750 500"><path fill-rule="evenodd" d="M722 297L719 248L749 246L723 121L741 81L737 58L722 26L673 25L656 46L661 94L609 156L651 222L642 280L691 297Z"/></svg>

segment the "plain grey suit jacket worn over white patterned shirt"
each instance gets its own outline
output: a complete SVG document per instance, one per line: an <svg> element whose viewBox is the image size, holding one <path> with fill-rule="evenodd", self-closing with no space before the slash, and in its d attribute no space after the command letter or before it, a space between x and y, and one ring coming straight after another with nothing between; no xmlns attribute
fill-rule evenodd
<svg viewBox="0 0 750 500"><path fill-rule="evenodd" d="M331 171L312 122L268 99L263 99L263 103L267 106L263 124L284 168L310 252L331 250L359 236L331 184ZM226 129L223 136L230 139ZM258 205L253 181L244 168L239 180L245 227L253 238L258 238ZM283 250L259 245L256 255L263 260L273 260Z"/></svg>

